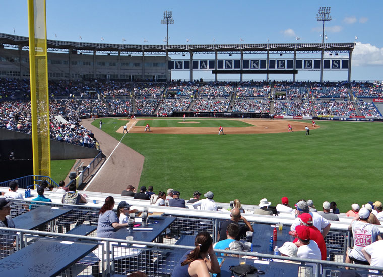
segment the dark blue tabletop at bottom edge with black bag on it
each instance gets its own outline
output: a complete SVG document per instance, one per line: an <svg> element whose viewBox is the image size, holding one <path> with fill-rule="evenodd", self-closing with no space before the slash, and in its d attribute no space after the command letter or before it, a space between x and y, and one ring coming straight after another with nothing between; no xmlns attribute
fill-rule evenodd
<svg viewBox="0 0 383 277"><path fill-rule="evenodd" d="M261 277L297 277L299 272L299 264L287 262L269 262L268 264L254 263L254 260L247 260L246 264L251 264L258 270L264 271L265 275ZM229 267L231 265L239 265L239 260L236 257L225 257L221 266L221 273L217 277L231 277Z"/></svg>

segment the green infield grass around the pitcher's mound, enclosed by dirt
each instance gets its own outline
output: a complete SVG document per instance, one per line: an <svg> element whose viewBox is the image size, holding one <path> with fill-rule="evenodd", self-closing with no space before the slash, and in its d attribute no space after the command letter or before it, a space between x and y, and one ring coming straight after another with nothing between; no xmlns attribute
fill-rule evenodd
<svg viewBox="0 0 383 277"><path fill-rule="evenodd" d="M149 124L150 127L252 127L254 125L239 121L239 120L225 120L225 119L194 119L190 118L185 120L185 122L198 122L194 124L185 124L183 119L152 119L152 120L138 120L136 126L146 126Z"/></svg>

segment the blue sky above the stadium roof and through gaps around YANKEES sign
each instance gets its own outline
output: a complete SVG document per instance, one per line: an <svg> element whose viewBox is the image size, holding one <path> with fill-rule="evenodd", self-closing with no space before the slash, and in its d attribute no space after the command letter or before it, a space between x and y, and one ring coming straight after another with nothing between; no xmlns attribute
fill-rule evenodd
<svg viewBox="0 0 383 277"><path fill-rule="evenodd" d="M96 43L164 44L166 25L162 25L161 20L164 11L168 10L172 11L174 19L174 24L169 25L169 44L267 43L268 40L270 43L320 43L322 22L316 20L316 14L318 8L323 6L331 7L332 17L331 21L325 22L326 42L357 43L352 54L351 79L383 80L383 1L380 0L46 0L47 38ZM3 11L0 32L28 36L27 0L0 0L0 10ZM355 40L355 37L358 39ZM122 41L123 38L125 41ZM190 41L186 42L187 39ZM240 39L243 41L240 42ZM285 56L292 58L292 55ZM179 55L170 57L188 59ZM320 55L304 57L320 58ZM194 55L194 58L214 59L214 56ZM223 54L218 58L229 57ZM230 58L239 58L239 55ZM250 55L244 58L250 58ZM211 71L194 71L193 77L214 79ZM173 71L172 78L188 79L189 72ZM239 74L220 74L218 78L238 80ZM243 78L263 80L266 75L244 74ZM290 80L292 75L272 74L270 78ZM320 72L299 71L296 78L318 80ZM324 80L346 79L347 71L324 71Z"/></svg>

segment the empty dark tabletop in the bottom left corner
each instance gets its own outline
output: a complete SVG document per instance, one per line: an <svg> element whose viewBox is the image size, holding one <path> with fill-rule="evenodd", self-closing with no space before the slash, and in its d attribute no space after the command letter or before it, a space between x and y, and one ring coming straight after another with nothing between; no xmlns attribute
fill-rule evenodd
<svg viewBox="0 0 383 277"><path fill-rule="evenodd" d="M0 275L56 276L97 246L96 243L40 239L0 260Z"/></svg>

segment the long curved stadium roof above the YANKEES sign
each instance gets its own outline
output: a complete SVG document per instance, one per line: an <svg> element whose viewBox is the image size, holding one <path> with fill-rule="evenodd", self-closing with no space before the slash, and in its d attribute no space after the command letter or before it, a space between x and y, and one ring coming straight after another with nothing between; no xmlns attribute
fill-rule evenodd
<svg viewBox="0 0 383 277"><path fill-rule="evenodd" d="M5 47L29 48L29 38L0 33L0 44ZM49 51L77 50L79 52L127 53L127 54L214 54L218 53L348 53L355 47L354 42L348 43L261 43L261 44L179 44L179 45L148 45L148 44L108 44L94 42L76 42L47 40Z"/></svg>

